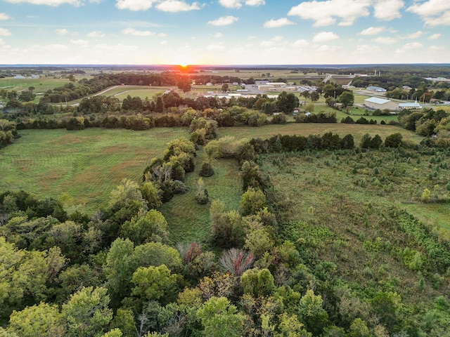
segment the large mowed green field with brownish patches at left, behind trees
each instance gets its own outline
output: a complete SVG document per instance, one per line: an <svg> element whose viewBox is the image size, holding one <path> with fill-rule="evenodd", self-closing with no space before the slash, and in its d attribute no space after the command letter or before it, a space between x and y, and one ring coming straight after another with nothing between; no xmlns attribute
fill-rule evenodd
<svg viewBox="0 0 450 337"><path fill-rule="evenodd" d="M25 190L39 199L65 194L68 206L87 213L108 201L123 178L140 180L169 140L189 136L187 128L26 130L20 135L0 150L0 191Z"/></svg>

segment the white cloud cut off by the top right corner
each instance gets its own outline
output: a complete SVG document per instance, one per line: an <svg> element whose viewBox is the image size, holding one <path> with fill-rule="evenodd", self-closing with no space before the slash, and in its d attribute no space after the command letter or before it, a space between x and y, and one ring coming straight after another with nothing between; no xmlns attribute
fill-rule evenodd
<svg viewBox="0 0 450 337"><path fill-rule="evenodd" d="M417 14L428 26L450 25L450 1L428 0L416 2L406 9Z"/></svg>

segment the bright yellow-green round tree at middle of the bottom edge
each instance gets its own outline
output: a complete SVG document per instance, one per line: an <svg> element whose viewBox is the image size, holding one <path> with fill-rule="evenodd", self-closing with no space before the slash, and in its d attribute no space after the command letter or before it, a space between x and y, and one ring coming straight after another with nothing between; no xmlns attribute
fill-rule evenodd
<svg viewBox="0 0 450 337"><path fill-rule="evenodd" d="M197 310L197 317L205 326L205 336L239 337L245 316L238 313L225 297L212 297Z"/></svg>

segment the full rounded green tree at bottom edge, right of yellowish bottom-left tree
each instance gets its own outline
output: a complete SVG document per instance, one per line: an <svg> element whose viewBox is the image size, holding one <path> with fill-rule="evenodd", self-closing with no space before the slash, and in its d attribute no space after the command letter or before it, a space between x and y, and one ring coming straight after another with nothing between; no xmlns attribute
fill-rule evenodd
<svg viewBox="0 0 450 337"><path fill-rule="evenodd" d="M108 308L110 298L108 289L103 287L83 287L70 296L63 304L61 314L67 324L65 336L100 336L113 319L113 310Z"/></svg>

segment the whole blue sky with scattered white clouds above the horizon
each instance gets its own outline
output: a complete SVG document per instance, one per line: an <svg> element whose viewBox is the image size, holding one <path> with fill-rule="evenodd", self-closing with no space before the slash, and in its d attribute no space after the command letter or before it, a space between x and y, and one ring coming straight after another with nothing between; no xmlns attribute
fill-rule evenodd
<svg viewBox="0 0 450 337"><path fill-rule="evenodd" d="M0 65L449 63L449 0L0 0Z"/></svg>

